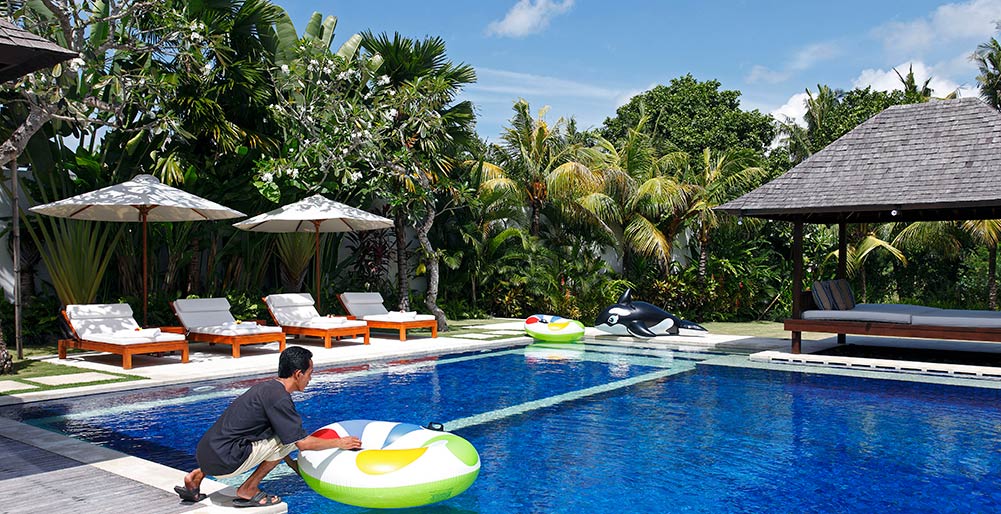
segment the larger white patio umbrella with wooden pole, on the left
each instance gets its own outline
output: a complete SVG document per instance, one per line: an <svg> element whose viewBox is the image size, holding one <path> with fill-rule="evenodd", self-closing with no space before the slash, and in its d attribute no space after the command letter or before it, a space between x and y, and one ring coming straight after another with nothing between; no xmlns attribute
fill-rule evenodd
<svg viewBox="0 0 1001 514"><path fill-rule="evenodd" d="M117 185L109 185L66 199L31 207L32 212L72 219L142 222L142 324L146 325L148 300L146 272L147 221L201 221L227 219L243 214L224 205L164 185L153 175L136 175Z"/></svg>

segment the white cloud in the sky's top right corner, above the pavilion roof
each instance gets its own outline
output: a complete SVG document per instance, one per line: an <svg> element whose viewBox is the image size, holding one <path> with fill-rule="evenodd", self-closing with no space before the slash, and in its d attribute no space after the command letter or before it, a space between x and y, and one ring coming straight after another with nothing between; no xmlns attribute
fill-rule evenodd
<svg viewBox="0 0 1001 514"><path fill-rule="evenodd" d="M890 51L915 53L951 41L979 41L997 31L1001 0L971 0L939 6L921 19L890 22L874 29Z"/></svg>

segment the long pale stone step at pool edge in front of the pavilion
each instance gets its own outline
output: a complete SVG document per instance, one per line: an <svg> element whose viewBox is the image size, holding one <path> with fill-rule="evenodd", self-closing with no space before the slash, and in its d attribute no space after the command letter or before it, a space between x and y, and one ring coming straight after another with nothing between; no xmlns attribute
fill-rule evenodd
<svg viewBox="0 0 1001 514"><path fill-rule="evenodd" d="M888 359L867 359L862 357L788 354L785 352L776 352L774 350L752 354L749 356L749 359L759 363L795 364L802 366L823 366L827 368L844 368L890 373L920 373L924 375L1001 380L1001 368L992 368L988 366L891 361Z"/></svg>

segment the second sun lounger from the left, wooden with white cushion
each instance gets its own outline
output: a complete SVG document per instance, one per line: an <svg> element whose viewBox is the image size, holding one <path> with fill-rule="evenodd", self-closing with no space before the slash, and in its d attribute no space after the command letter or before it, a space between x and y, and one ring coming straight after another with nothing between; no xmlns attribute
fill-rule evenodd
<svg viewBox="0 0 1001 514"><path fill-rule="evenodd" d="M229 312L229 301L224 298L177 300L170 307L184 326L188 341L229 345L234 359L239 358L243 345L276 342L279 352L285 349L285 333L281 327L237 321Z"/></svg>

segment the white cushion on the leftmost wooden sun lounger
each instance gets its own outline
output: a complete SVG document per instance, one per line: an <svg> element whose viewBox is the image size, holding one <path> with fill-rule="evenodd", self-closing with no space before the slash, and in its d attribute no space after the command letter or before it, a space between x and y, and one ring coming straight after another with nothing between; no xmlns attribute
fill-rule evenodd
<svg viewBox="0 0 1001 514"><path fill-rule="evenodd" d="M134 345L164 341L184 341L180 334L160 332L160 329L140 329L132 318L128 304L90 304L66 306L66 317L80 339Z"/></svg>

